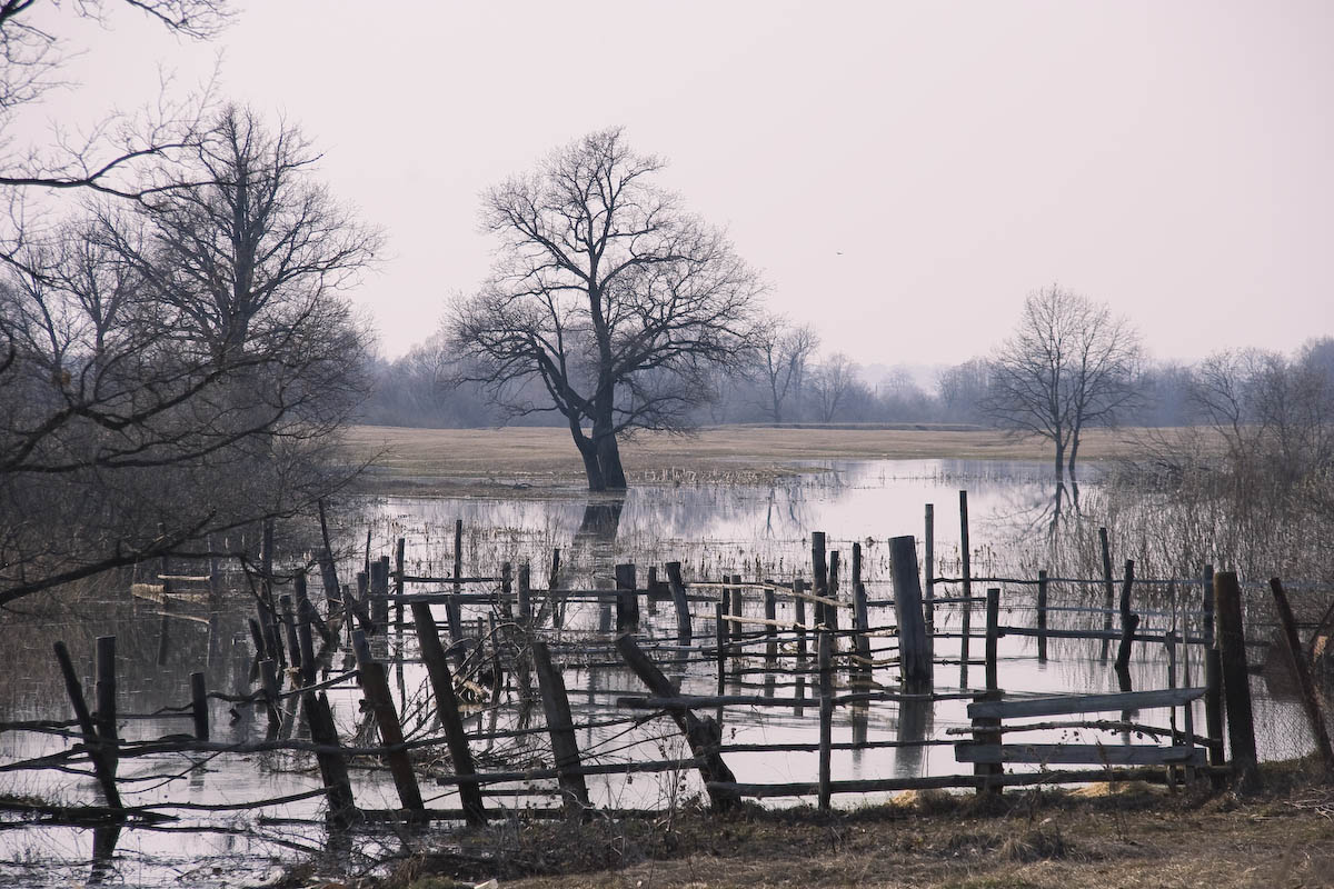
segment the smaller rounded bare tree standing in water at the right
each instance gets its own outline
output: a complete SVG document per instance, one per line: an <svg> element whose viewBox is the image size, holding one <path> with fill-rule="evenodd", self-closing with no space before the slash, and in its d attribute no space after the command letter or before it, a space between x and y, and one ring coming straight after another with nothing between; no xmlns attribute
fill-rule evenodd
<svg viewBox="0 0 1334 889"><path fill-rule="evenodd" d="M996 351L984 408L1000 424L1055 445L1057 481L1083 432L1109 425L1138 397L1139 333L1102 303L1057 285L1029 295L1015 332ZM1069 454L1069 462L1067 462Z"/></svg>

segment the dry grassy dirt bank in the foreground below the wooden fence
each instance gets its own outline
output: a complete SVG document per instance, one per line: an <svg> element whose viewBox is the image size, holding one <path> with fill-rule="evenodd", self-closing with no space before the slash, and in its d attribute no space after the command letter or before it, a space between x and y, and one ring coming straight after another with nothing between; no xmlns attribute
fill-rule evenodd
<svg viewBox="0 0 1334 889"><path fill-rule="evenodd" d="M834 814L496 826L376 885L454 889L488 878L515 889L1334 886L1334 788L1238 800L1094 786L983 804L926 796Z"/></svg>

